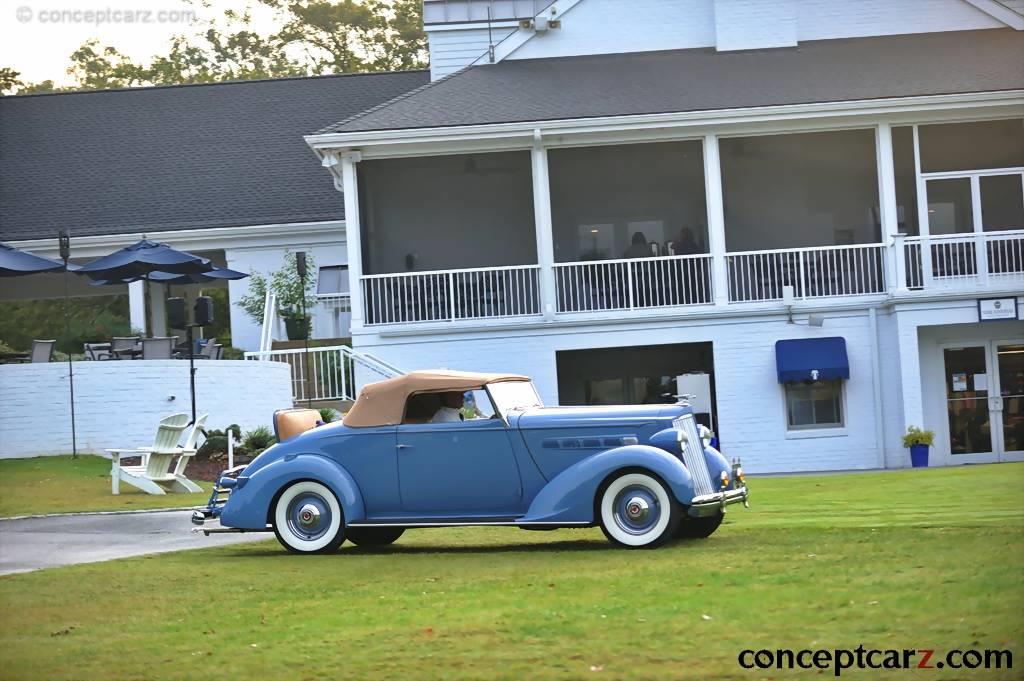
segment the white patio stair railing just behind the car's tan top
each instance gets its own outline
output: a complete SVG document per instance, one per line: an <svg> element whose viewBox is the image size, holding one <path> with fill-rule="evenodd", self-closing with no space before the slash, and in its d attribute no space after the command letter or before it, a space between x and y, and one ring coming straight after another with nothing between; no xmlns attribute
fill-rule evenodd
<svg viewBox="0 0 1024 681"><path fill-rule="evenodd" d="M347 345L246 352L246 359L284 361L292 369L292 396L296 402L355 399L359 384L397 376L402 372L378 357ZM365 371L356 381L357 372Z"/></svg>

